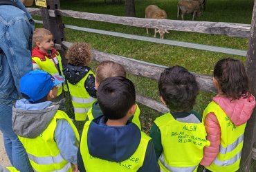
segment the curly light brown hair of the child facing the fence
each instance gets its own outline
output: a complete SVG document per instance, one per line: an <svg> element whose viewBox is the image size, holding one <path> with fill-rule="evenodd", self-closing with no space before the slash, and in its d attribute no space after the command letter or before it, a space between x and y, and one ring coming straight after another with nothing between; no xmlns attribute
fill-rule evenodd
<svg viewBox="0 0 256 172"><path fill-rule="evenodd" d="M89 43L74 43L66 52L68 63L76 66L88 66L91 63L91 45Z"/></svg>

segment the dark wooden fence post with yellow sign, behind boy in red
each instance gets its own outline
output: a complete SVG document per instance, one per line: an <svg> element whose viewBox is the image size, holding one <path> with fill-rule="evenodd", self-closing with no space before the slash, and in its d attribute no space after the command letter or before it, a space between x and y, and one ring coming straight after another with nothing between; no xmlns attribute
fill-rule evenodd
<svg viewBox="0 0 256 172"><path fill-rule="evenodd" d="M40 8L44 28L53 33L55 47L62 56L63 65L66 65L65 52L62 47L62 41L66 41L64 36L64 24L62 23L62 16L57 15L57 12L55 12L55 10L60 9L60 0L46 0L46 4L47 8Z"/></svg>

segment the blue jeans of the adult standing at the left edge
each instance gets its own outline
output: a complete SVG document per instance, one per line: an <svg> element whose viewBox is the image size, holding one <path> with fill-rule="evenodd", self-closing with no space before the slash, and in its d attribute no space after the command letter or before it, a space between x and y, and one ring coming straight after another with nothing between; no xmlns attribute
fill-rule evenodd
<svg viewBox="0 0 256 172"><path fill-rule="evenodd" d="M0 104L0 130L3 133L4 146L12 166L21 172L33 172L28 155L12 130L12 105Z"/></svg>

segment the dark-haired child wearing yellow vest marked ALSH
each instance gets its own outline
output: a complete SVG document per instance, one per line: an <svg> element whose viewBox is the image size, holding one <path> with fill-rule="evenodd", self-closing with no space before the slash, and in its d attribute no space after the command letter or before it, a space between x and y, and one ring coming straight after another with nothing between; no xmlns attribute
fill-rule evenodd
<svg viewBox="0 0 256 172"><path fill-rule="evenodd" d="M150 136L161 171L196 171L209 142L201 116L193 111L199 86L181 66L164 70L158 81L162 102L170 112L156 118Z"/></svg>

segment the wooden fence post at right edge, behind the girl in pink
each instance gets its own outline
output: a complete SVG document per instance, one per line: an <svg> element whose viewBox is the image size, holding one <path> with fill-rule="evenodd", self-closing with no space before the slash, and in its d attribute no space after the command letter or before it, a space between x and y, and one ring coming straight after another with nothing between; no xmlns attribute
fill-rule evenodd
<svg viewBox="0 0 256 172"><path fill-rule="evenodd" d="M250 90L256 96L256 0L254 1L253 17L250 28L249 45L246 60L246 72L250 80ZM241 155L240 171L250 170L252 164L253 147L256 141L256 108L246 125L244 134L244 147Z"/></svg>

